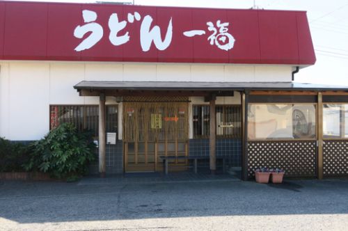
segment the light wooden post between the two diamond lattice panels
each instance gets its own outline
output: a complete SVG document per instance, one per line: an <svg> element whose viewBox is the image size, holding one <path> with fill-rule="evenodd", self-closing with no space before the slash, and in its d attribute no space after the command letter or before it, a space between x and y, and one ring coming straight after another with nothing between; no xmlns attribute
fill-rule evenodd
<svg viewBox="0 0 348 231"><path fill-rule="evenodd" d="M323 97L322 93L318 93L318 116L317 116L317 150L318 150L318 164L317 164L317 173L318 179L323 179Z"/></svg>

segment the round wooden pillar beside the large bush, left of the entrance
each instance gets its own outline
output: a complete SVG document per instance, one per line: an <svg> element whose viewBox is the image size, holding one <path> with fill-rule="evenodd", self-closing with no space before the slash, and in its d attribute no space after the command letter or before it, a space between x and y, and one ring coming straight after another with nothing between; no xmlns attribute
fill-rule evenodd
<svg viewBox="0 0 348 231"><path fill-rule="evenodd" d="M105 138L105 94L100 93L99 99L99 173L100 177L105 177L106 173L106 138Z"/></svg>

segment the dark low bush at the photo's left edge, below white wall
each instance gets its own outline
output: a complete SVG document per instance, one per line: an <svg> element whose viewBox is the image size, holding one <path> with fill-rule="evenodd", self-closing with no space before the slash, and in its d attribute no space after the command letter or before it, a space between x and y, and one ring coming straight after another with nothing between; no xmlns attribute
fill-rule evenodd
<svg viewBox="0 0 348 231"><path fill-rule="evenodd" d="M29 148L0 138L0 172L24 172L23 164L29 161Z"/></svg>

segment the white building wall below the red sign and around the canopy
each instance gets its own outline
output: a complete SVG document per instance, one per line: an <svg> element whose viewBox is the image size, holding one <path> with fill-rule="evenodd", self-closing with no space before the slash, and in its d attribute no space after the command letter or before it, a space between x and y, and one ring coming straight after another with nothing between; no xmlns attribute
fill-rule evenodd
<svg viewBox="0 0 348 231"><path fill-rule="evenodd" d="M291 81L292 72L287 65L49 61L1 61L0 68L0 136L14 141L39 139L49 132L50 104L98 104L98 97L80 97L72 88L83 80ZM237 97L221 97L216 104L239 104ZM116 104L115 99L108 97L106 104Z"/></svg>

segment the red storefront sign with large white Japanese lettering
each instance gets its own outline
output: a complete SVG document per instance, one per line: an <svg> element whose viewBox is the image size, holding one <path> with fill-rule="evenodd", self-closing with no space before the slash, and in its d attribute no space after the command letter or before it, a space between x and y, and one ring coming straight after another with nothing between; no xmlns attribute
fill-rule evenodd
<svg viewBox="0 0 348 231"><path fill-rule="evenodd" d="M0 3L0 59L311 65L305 12Z"/></svg>

